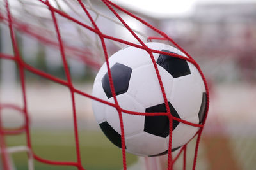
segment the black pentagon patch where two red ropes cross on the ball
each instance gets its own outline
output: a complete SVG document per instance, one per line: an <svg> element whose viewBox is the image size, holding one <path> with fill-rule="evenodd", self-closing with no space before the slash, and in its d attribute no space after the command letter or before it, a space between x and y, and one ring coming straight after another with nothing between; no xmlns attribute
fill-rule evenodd
<svg viewBox="0 0 256 170"><path fill-rule="evenodd" d="M172 104L168 102L173 117L180 118ZM166 112L165 104L158 104L146 108L147 113ZM179 121L173 120L172 130L174 130ZM144 131L156 136L167 137L169 135L169 119L167 116L145 116Z"/></svg>

